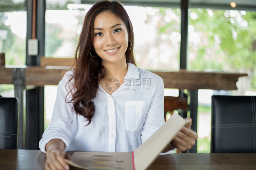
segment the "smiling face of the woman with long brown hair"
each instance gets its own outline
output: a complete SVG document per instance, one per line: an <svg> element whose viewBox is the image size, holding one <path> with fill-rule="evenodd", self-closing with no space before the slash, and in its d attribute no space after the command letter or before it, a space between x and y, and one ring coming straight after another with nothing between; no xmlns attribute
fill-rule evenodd
<svg viewBox="0 0 256 170"><path fill-rule="evenodd" d="M94 20L93 34L93 47L102 58L102 64L126 62L129 39L122 20L111 12L102 12Z"/></svg>

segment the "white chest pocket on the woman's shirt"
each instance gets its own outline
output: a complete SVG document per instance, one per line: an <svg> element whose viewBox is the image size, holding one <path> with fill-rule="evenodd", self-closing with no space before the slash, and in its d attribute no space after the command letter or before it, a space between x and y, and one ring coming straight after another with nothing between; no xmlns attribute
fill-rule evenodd
<svg viewBox="0 0 256 170"><path fill-rule="evenodd" d="M144 101L125 102L125 127L129 131L138 131L142 128L146 113L143 111Z"/></svg>

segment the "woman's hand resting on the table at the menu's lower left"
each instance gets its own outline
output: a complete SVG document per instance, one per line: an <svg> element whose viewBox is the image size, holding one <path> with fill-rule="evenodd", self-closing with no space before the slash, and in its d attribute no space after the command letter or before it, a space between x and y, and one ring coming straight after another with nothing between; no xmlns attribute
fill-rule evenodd
<svg viewBox="0 0 256 170"><path fill-rule="evenodd" d="M63 150L47 150L46 152L46 170L67 170L69 169L68 163L64 161L65 159L71 160L71 156L65 153Z"/></svg>

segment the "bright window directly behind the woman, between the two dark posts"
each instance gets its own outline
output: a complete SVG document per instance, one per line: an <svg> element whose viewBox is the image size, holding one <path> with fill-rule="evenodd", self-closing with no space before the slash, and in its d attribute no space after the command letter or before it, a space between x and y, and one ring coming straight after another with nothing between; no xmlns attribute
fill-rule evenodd
<svg viewBox="0 0 256 170"><path fill-rule="evenodd" d="M92 5L76 1L46 0L46 57L74 57L86 12ZM135 60L146 70L179 70L179 8L139 7L125 5L134 29ZM51 102L57 86L45 87L45 128L51 120ZM165 90L165 94L177 90ZM54 100L55 101L55 100Z"/></svg>

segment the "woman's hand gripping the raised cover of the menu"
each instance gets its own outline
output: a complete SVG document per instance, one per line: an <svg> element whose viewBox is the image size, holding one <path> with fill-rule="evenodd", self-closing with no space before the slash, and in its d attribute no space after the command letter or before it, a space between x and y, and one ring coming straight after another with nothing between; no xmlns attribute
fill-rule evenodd
<svg viewBox="0 0 256 170"><path fill-rule="evenodd" d="M173 139L173 145L181 151L185 151L190 149L194 144L195 140L197 139L196 132L192 131L191 124L192 119L186 118L188 123L177 133L177 136Z"/></svg>

